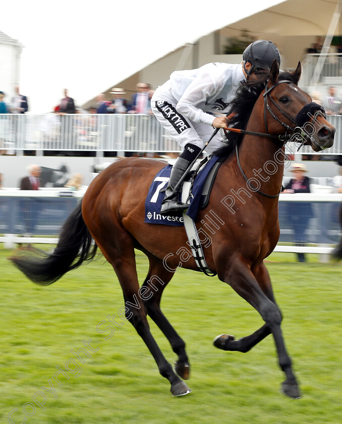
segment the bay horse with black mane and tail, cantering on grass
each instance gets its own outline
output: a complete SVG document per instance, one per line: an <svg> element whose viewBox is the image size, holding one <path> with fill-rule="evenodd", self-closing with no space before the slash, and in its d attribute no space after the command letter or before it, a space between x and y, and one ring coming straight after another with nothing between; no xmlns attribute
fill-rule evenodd
<svg viewBox="0 0 342 424"><path fill-rule="evenodd" d="M279 238L278 195L286 156L284 143L291 134L303 134L299 127L307 122L314 131L303 139L303 144L311 144L315 151L330 147L335 133L324 112L319 112L321 107L298 87L301 72L299 63L295 71L279 74L274 61L262 88L241 89L233 105L238 113L232 118L241 134L232 135L227 150L221 153L226 154L233 145L236 152L232 151L219 168L209 203L199 210L196 220L199 232L210 236L210 243L203 246L209 269L250 303L264 321L247 337L235 340L224 334L214 339L214 345L227 351L247 352L272 334L279 366L286 376L281 389L291 398L299 398L300 390L263 259L273 251ZM160 299L178 267L194 271L198 268L191 253L187 254L183 227L144 223L149 186L164 166L162 161L145 158L123 158L113 163L89 185L82 202L64 223L52 253L28 248L17 251L10 259L32 281L48 285L91 260L98 246L118 276L126 319L147 345L159 373L169 381L170 392L181 396L191 391L184 381L189 378L189 359L184 341L160 309ZM208 225L210 214L218 218L220 226ZM142 287L134 249L144 252L149 260ZM175 371L153 338L147 315L178 356Z"/></svg>

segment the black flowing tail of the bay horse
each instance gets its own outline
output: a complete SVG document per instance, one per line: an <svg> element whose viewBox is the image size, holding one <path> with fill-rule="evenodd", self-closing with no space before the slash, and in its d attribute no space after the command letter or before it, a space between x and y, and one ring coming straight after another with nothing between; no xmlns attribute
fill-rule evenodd
<svg viewBox="0 0 342 424"><path fill-rule="evenodd" d="M97 246L92 245L93 238L85 225L81 208L82 202L63 224L60 239L52 253L25 247L9 258L34 283L48 286L85 260L94 258Z"/></svg>

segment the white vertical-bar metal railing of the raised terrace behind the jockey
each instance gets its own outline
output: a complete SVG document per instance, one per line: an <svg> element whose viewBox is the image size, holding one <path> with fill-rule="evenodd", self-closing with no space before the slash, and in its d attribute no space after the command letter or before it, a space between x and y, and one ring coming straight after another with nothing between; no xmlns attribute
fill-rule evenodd
<svg viewBox="0 0 342 424"><path fill-rule="evenodd" d="M328 116L337 129L334 145L319 154L342 154L342 116ZM287 153L297 154L290 143ZM0 114L0 150L83 152L180 152L181 147L152 115ZM317 154L311 147L299 153Z"/></svg>

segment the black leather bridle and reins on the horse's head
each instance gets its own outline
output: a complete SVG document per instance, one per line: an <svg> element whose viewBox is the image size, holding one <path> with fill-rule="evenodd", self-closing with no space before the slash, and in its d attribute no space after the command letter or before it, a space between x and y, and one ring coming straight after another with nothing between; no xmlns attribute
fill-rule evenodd
<svg viewBox="0 0 342 424"><path fill-rule="evenodd" d="M238 128L225 128L224 129L224 133L226 134L226 131L233 131L233 132L237 132L240 134L249 134L249 135L255 135L258 137L267 137L267 138L271 138L277 141L280 141L281 145L280 147L282 147L284 144L286 144L288 141L291 140L291 138L293 137L293 134L295 132L299 132L300 133L300 146L298 148L298 150L304 145L304 143L306 141L310 141L311 139L311 135L305 130L304 125L308 122L308 114L309 113L313 113L314 114L314 119L318 116L321 115L324 118L326 118L325 116L325 110L324 108L315 102L311 102L308 103L306 105L304 105L304 107L298 112L296 118L292 118L289 114L287 114L286 112L284 112L279 105L272 99L272 97L269 95L269 93L279 84L292 84L293 81L290 80L280 80L277 81L275 84L271 85L270 87L267 87L267 83L266 83L266 87L265 87L265 91L263 93L263 97L264 97L264 121L265 121L265 127L266 127L266 131L267 133L258 133L258 132L254 132L254 131L246 131L246 130L242 130L242 129L238 129ZM275 116L275 114L273 113L273 111L270 108L269 105L269 100L272 101L272 103L275 105L275 107L280 111L280 113L285 116L286 118L288 118L292 123L295 124L295 128L291 127L290 125L284 123L283 121L281 121L277 116ZM282 135L274 135L274 134L270 134L268 132L268 127L267 127L267 112L270 113L270 115L272 116L273 119L275 119L277 122L279 122L284 128L286 128L286 132ZM289 133L291 132L291 133ZM241 174L243 175L244 179L248 182L249 187L256 193L259 193L265 197L269 197L269 198L275 198L278 197L279 194L282 191L282 186L280 187L280 191L278 194L275 195L270 195L270 194L266 194L263 193L262 191L258 190L256 187L254 187L251 182L248 180L246 174L244 173L242 167L241 167L241 163L240 163L240 159L239 159L239 150L238 150L238 143L236 143L235 145L235 150L236 150L236 156L237 156L237 162L238 162L238 166L240 169Z"/></svg>

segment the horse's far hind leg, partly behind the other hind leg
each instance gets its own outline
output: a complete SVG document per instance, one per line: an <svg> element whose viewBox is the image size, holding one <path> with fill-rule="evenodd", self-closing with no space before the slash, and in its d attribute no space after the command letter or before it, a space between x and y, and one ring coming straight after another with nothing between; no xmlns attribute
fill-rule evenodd
<svg viewBox="0 0 342 424"><path fill-rule="evenodd" d="M155 256L149 257L150 269L143 287L149 289L149 294L144 300L144 305L148 315L156 323L162 333L165 335L173 351L178 355L178 360L175 362L177 374L184 380L187 380L190 375L190 364L185 351L185 343L178 335L173 326L168 322L165 315L160 309L160 299L167 283L174 276L174 272L169 272L165 269L162 260Z"/></svg>

